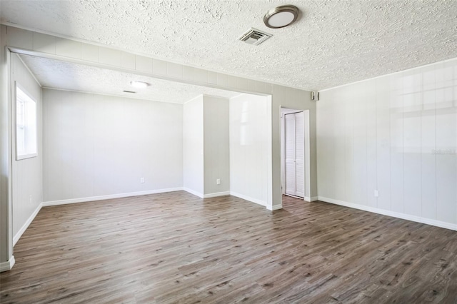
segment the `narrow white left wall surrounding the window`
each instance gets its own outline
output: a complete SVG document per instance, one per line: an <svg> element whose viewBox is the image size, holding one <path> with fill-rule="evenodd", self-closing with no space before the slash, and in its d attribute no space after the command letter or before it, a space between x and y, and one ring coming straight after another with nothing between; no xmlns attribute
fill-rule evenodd
<svg viewBox="0 0 457 304"><path fill-rule="evenodd" d="M24 233L29 218L37 211L41 203L41 86L31 75L29 69L24 66L19 56L11 55L11 92L14 92L14 81L24 88L26 93L36 101L36 123L37 123L37 156L33 158L21 159L16 161L16 139L12 141L12 208L13 208L13 235L15 240L19 239L19 234ZM14 93L13 93L14 94ZM13 95L11 108L15 115L14 106L16 96ZM13 119L13 128L15 121Z"/></svg>

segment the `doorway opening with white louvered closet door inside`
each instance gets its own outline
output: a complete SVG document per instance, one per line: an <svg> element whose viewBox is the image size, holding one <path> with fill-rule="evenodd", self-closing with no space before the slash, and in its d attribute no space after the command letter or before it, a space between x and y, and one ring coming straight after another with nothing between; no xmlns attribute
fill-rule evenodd
<svg viewBox="0 0 457 304"><path fill-rule="evenodd" d="M310 201L309 111L281 108L282 193Z"/></svg>

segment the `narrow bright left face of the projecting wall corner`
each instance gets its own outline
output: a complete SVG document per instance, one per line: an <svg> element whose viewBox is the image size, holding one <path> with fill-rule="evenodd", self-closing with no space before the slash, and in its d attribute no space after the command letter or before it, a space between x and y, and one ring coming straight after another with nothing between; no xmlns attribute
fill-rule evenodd
<svg viewBox="0 0 457 304"><path fill-rule="evenodd" d="M204 109L203 95L184 103L183 164L184 189L204 195Z"/></svg>

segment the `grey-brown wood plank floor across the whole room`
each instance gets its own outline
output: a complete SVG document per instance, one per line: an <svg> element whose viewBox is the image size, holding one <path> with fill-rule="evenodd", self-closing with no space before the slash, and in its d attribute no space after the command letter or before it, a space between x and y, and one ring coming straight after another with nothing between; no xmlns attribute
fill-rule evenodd
<svg viewBox="0 0 457 304"><path fill-rule="evenodd" d="M43 208L1 303L457 303L457 232L184 191Z"/></svg>

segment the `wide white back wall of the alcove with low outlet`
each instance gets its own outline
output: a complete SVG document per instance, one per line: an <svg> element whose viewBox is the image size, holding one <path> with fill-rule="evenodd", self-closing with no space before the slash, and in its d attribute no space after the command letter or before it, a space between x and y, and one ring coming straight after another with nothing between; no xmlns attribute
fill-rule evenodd
<svg viewBox="0 0 457 304"><path fill-rule="evenodd" d="M181 105L51 89L43 99L45 202L182 187Z"/></svg>

